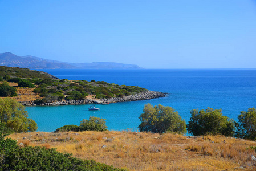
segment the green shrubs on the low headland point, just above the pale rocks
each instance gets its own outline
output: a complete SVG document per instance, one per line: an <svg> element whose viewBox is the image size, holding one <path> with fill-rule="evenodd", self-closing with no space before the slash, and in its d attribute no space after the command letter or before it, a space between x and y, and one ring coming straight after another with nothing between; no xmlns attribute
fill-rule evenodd
<svg viewBox="0 0 256 171"><path fill-rule="evenodd" d="M119 86L117 84L109 84L107 82L95 82L92 80L78 80L76 82L62 79L54 80L54 82L35 83L38 84L33 92L43 96L44 99L36 101L37 103L48 103L58 100L80 100L85 99L87 95L94 95L96 98L111 98L135 95L147 91L145 88L136 86Z"/></svg>

